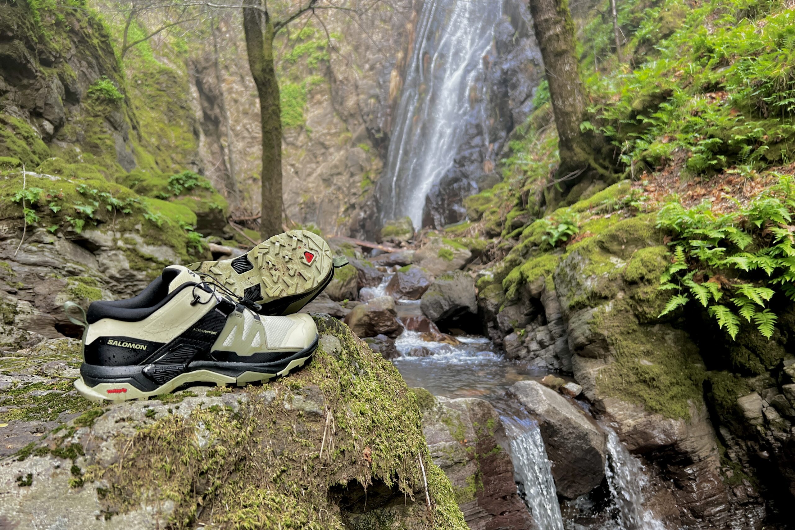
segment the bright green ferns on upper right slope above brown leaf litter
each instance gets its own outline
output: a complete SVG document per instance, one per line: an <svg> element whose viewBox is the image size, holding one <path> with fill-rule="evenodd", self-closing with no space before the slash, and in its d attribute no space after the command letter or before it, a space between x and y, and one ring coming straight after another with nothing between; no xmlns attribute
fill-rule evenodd
<svg viewBox="0 0 795 530"><path fill-rule="evenodd" d="M591 111L629 168L684 153L688 172L789 163L795 148L795 14L778 0L630 0L619 6L633 69L615 68L612 22L585 29ZM615 68L605 75L605 68ZM681 157L677 155L677 157ZM637 170L637 169L636 169Z"/></svg>

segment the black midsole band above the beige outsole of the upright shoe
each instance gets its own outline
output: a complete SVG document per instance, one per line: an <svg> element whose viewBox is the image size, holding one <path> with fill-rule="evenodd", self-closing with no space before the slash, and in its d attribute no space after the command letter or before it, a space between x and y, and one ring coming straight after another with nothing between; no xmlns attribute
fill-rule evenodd
<svg viewBox="0 0 795 530"><path fill-rule="evenodd" d="M316 337L314 342L304 348L304 350L297 351L293 354L287 353L284 358L271 362L193 361L184 365L181 370L176 371L173 377L200 369L220 373L228 377L239 377L246 372L278 373L287 368L290 362L311 355L312 352L317 349L317 341L318 338ZM94 387L100 383L111 383L115 385L128 383L142 392L153 392L162 385L165 385L168 381L157 383L147 377L145 369L152 366L157 365L98 366L83 362L83 365L80 366L80 375L83 377L83 382L89 387Z"/></svg>

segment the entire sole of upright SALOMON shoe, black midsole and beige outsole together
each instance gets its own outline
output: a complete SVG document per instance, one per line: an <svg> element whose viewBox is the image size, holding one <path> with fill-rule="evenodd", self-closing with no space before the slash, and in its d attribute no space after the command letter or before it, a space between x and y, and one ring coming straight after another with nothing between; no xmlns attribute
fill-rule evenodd
<svg viewBox="0 0 795 530"><path fill-rule="evenodd" d="M269 366L266 369L253 370L251 368L256 368L256 366L243 362L196 362L192 363L196 366L196 369L180 373L180 375L163 385L148 391L138 389L127 377L125 377L125 381L98 383L97 385L89 386L83 380L82 375L76 379L75 389L81 396L95 403L118 403L129 400L148 400L150 397L171 393L174 389L189 383L215 383L216 386L246 386L249 383L270 381L275 377L288 375L304 366L312 358L312 354L316 349L317 340L306 350L302 350L293 358L285 360L282 363L284 368L281 368L281 366Z"/></svg>

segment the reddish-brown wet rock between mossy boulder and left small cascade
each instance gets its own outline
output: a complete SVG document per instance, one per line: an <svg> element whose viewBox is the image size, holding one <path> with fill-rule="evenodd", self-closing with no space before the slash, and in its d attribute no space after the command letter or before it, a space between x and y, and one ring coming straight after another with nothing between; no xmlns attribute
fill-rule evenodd
<svg viewBox="0 0 795 530"><path fill-rule="evenodd" d="M433 462L452 482L471 530L535 528L518 496L498 413L485 400L433 397L414 389Z"/></svg>

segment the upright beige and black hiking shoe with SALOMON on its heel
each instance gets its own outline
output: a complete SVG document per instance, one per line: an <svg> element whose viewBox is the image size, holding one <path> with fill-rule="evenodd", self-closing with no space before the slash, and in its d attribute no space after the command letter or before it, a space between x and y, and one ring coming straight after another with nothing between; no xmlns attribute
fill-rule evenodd
<svg viewBox="0 0 795 530"><path fill-rule="evenodd" d="M181 265L166 267L138 296L94 302L83 321L70 315L86 328L75 388L95 401L145 399L185 383L242 386L303 366L317 347L312 317L261 316L247 305Z"/></svg>

